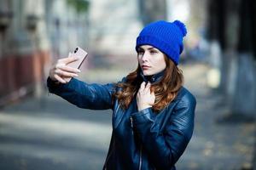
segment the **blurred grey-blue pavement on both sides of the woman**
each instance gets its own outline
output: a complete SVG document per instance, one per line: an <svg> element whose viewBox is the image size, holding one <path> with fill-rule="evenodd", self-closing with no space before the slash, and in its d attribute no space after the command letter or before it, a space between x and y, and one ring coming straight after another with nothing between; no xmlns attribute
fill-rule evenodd
<svg viewBox="0 0 256 170"><path fill-rule="evenodd" d="M218 124L228 107L207 88L207 66L183 65L197 99L195 132L177 170L240 170L253 162L255 125ZM87 71L89 82L115 82L125 71ZM91 77L91 75L95 77ZM90 76L89 76L90 75ZM0 169L101 169L111 135L111 111L82 110L52 94L0 111Z"/></svg>

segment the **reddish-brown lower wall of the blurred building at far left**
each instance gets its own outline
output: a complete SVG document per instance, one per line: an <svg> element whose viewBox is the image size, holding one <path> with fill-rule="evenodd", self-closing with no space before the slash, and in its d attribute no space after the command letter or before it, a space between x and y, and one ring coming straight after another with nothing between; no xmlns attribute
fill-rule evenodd
<svg viewBox="0 0 256 170"><path fill-rule="evenodd" d="M44 66L49 65L49 61L48 51L0 58L0 105L33 92L35 82L42 82L46 77Z"/></svg>

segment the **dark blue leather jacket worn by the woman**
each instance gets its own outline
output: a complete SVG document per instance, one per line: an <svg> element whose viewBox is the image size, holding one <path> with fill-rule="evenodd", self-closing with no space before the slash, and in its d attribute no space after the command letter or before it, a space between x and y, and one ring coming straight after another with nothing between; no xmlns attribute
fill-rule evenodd
<svg viewBox="0 0 256 170"><path fill-rule="evenodd" d="M158 81L159 77L150 81ZM49 78L47 82L50 93L80 108L113 110L113 133L103 169L176 169L175 163L194 129L196 101L186 88L181 88L176 99L156 114L151 108L137 111L136 99L127 110L122 110L117 99L112 102L112 83L88 84L74 78L61 85L55 85Z"/></svg>

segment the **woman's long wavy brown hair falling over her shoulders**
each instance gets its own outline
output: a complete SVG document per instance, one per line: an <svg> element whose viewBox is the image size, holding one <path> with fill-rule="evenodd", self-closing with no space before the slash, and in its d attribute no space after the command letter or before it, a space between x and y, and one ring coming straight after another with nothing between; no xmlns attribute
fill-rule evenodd
<svg viewBox="0 0 256 170"><path fill-rule="evenodd" d="M153 111L160 112L177 96L178 90L183 86L183 72L168 59L165 55L166 69L163 77L159 82L151 84L150 91L154 91L155 101L152 105ZM119 100L119 105L123 109L127 109L131 104L131 100L136 97L137 91L140 88L143 78L140 76L141 68L137 66L136 71L132 71L126 77L126 82L119 82L118 90L114 97Z"/></svg>

